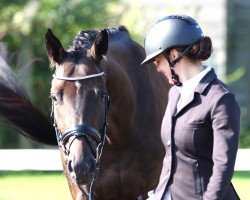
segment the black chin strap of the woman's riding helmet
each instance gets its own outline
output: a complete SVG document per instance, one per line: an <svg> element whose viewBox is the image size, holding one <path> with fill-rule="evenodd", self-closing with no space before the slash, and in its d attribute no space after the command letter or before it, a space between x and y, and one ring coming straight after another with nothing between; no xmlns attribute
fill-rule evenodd
<svg viewBox="0 0 250 200"><path fill-rule="evenodd" d="M182 53L180 53L180 55L174 59L172 62L170 61L170 58L168 56L168 54L166 52L164 52L164 56L167 59L168 63L169 63L169 67L171 70L171 74L172 74L172 81L174 83L174 85L176 86L182 86L182 83L180 82L179 76L175 73L174 71L174 66L177 62L179 62L188 52L189 50L192 48L192 45L188 46Z"/></svg>

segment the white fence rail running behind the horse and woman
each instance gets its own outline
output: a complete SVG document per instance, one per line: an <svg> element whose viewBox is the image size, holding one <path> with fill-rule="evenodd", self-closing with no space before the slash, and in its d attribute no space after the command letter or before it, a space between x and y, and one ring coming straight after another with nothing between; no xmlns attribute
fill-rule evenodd
<svg viewBox="0 0 250 200"><path fill-rule="evenodd" d="M0 171L62 171L56 149L0 150ZM235 171L250 171L250 149L239 149Z"/></svg>

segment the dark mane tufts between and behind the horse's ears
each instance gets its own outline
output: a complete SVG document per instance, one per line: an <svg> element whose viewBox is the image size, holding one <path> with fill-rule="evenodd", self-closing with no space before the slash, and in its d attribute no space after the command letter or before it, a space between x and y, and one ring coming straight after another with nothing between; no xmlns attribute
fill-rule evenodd
<svg viewBox="0 0 250 200"><path fill-rule="evenodd" d="M109 33L110 39L118 39L118 38L126 38L130 39L130 34L125 26L119 26L118 28L109 28L106 29ZM88 49L91 48L95 39L101 32L99 30L82 30L79 31L78 34L75 36L72 45L69 47L68 51L84 51L86 52Z"/></svg>

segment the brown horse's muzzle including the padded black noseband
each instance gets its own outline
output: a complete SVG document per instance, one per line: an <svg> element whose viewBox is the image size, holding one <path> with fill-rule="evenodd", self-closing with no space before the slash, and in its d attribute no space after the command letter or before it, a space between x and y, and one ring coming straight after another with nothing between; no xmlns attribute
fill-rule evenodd
<svg viewBox="0 0 250 200"><path fill-rule="evenodd" d="M77 184L88 184L94 178L101 141L102 134L86 124L71 127L58 138L68 172Z"/></svg>

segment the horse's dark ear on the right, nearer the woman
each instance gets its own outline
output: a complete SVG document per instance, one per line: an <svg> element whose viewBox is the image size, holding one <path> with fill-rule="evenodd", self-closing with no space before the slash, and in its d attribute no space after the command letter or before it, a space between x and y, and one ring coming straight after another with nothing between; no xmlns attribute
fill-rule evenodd
<svg viewBox="0 0 250 200"><path fill-rule="evenodd" d="M102 30L91 47L91 55L99 62L108 51L108 31Z"/></svg>

